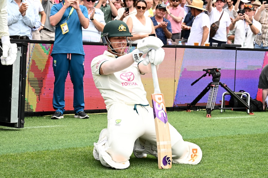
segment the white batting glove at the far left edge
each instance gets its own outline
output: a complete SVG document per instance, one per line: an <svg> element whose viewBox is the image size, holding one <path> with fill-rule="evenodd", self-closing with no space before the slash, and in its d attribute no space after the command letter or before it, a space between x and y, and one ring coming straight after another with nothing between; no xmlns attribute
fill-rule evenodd
<svg viewBox="0 0 268 178"><path fill-rule="evenodd" d="M7 49L6 45L3 44L3 55L1 56L1 63L2 65L12 65L16 58L17 58L17 44L16 43L9 43L8 45L7 57L4 58L4 50Z"/></svg>

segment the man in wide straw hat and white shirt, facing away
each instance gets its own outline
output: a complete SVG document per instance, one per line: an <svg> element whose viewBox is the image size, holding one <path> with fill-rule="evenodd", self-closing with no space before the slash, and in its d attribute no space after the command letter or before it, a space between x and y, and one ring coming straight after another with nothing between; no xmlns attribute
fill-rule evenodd
<svg viewBox="0 0 268 178"><path fill-rule="evenodd" d="M188 45L194 45L194 42L199 42L200 46L204 46L209 41L210 20L204 11L202 0L193 0L192 5L187 5L191 8L191 13L195 17L191 32L188 38Z"/></svg>

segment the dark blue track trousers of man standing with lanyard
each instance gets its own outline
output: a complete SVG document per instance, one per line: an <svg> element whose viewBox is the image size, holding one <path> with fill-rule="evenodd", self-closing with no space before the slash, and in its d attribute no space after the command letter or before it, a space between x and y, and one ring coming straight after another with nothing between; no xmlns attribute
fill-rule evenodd
<svg viewBox="0 0 268 178"><path fill-rule="evenodd" d="M52 57L55 76L53 108L62 114L65 111L65 81L69 72L74 90L73 108L76 113L83 111L85 108L83 81L85 56L82 54L52 54Z"/></svg>

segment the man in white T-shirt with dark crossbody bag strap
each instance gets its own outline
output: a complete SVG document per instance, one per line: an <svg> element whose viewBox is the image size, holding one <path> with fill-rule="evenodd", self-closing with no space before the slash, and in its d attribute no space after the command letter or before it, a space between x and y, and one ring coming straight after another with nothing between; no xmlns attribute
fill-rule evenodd
<svg viewBox="0 0 268 178"><path fill-rule="evenodd" d="M210 19L210 25L218 21L222 15L219 22L219 29L217 30L214 37L209 38L210 46L212 42L218 43L218 46L225 44L227 42L227 34L229 32L229 25L231 24L230 16L227 12L223 11L224 0L217 0L215 2L216 7L212 7L212 0L208 1L207 11Z"/></svg>

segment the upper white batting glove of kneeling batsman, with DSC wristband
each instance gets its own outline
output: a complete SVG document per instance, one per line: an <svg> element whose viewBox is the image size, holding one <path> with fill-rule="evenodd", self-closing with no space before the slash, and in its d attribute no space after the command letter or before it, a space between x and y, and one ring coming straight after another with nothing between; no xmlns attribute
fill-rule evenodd
<svg viewBox="0 0 268 178"><path fill-rule="evenodd" d="M157 50L162 46L164 46L164 43L158 37L149 36L138 42L137 49L140 53L146 54L148 51Z"/></svg>

